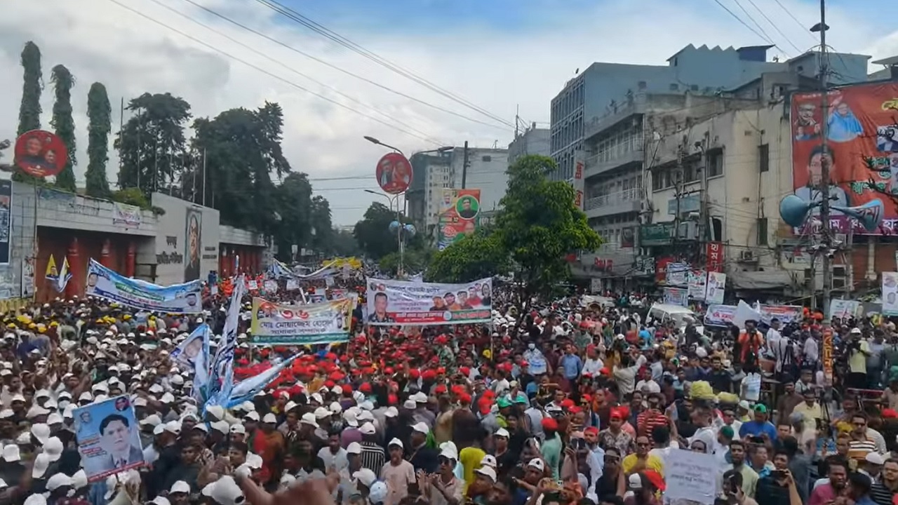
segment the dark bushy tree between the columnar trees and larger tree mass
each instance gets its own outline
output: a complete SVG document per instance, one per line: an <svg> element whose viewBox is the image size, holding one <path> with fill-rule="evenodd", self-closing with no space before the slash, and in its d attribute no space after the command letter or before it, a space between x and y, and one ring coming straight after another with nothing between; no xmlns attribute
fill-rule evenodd
<svg viewBox="0 0 898 505"><path fill-rule="evenodd" d="M144 93L128 102L132 116L116 136L119 189L139 188L147 199L180 182L188 157L184 125L190 104L172 93Z"/></svg>

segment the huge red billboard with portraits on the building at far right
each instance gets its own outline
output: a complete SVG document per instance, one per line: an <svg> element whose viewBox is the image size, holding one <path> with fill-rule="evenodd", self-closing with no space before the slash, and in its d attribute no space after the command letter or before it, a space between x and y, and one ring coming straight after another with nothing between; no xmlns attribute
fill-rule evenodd
<svg viewBox="0 0 898 505"><path fill-rule="evenodd" d="M823 93L797 93L792 100L792 180L795 194L821 201L821 167L830 166L831 205L857 207L882 200L882 226L868 232L857 220L832 211L836 233L892 235L898 231L898 84L858 84L827 93L823 146ZM820 208L813 209L814 215Z"/></svg>

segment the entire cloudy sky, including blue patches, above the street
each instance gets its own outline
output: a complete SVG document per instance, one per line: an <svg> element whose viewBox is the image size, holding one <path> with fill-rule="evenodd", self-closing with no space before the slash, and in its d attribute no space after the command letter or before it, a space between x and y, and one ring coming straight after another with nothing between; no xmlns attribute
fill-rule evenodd
<svg viewBox="0 0 898 505"><path fill-rule="evenodd" d="M465 140L506 146L515 108L527 122L548 121L551 97L577 68L594 61L665 65L689 43L738 47L768 37L778 45L771 57L796 56L796 48L814 45L802 25L813 25L819 15L818 4L808 0L278 3L303 17L277 13L270 0L3 0L0 139L15 134L19 55L34 40L45 79L60 63L77 79L79 182L93 82L106 84L116 118L122 97L144 92L180 95L196 117L268 100L284 108L290 163L309 173L330 200L335 224L349 225L378 198L364 189L376 189L374 164L384 149L365 142L365 135L407 154ZM894 19L880 15L882 2L828 4L834 49L874 59L898 55L898 30ZM356 50L310 25L355 43ZM406 74L375 63L378 58ZM48 88L45 127L51 107ZM110 163L112 182L115 170Z"/></svg>

